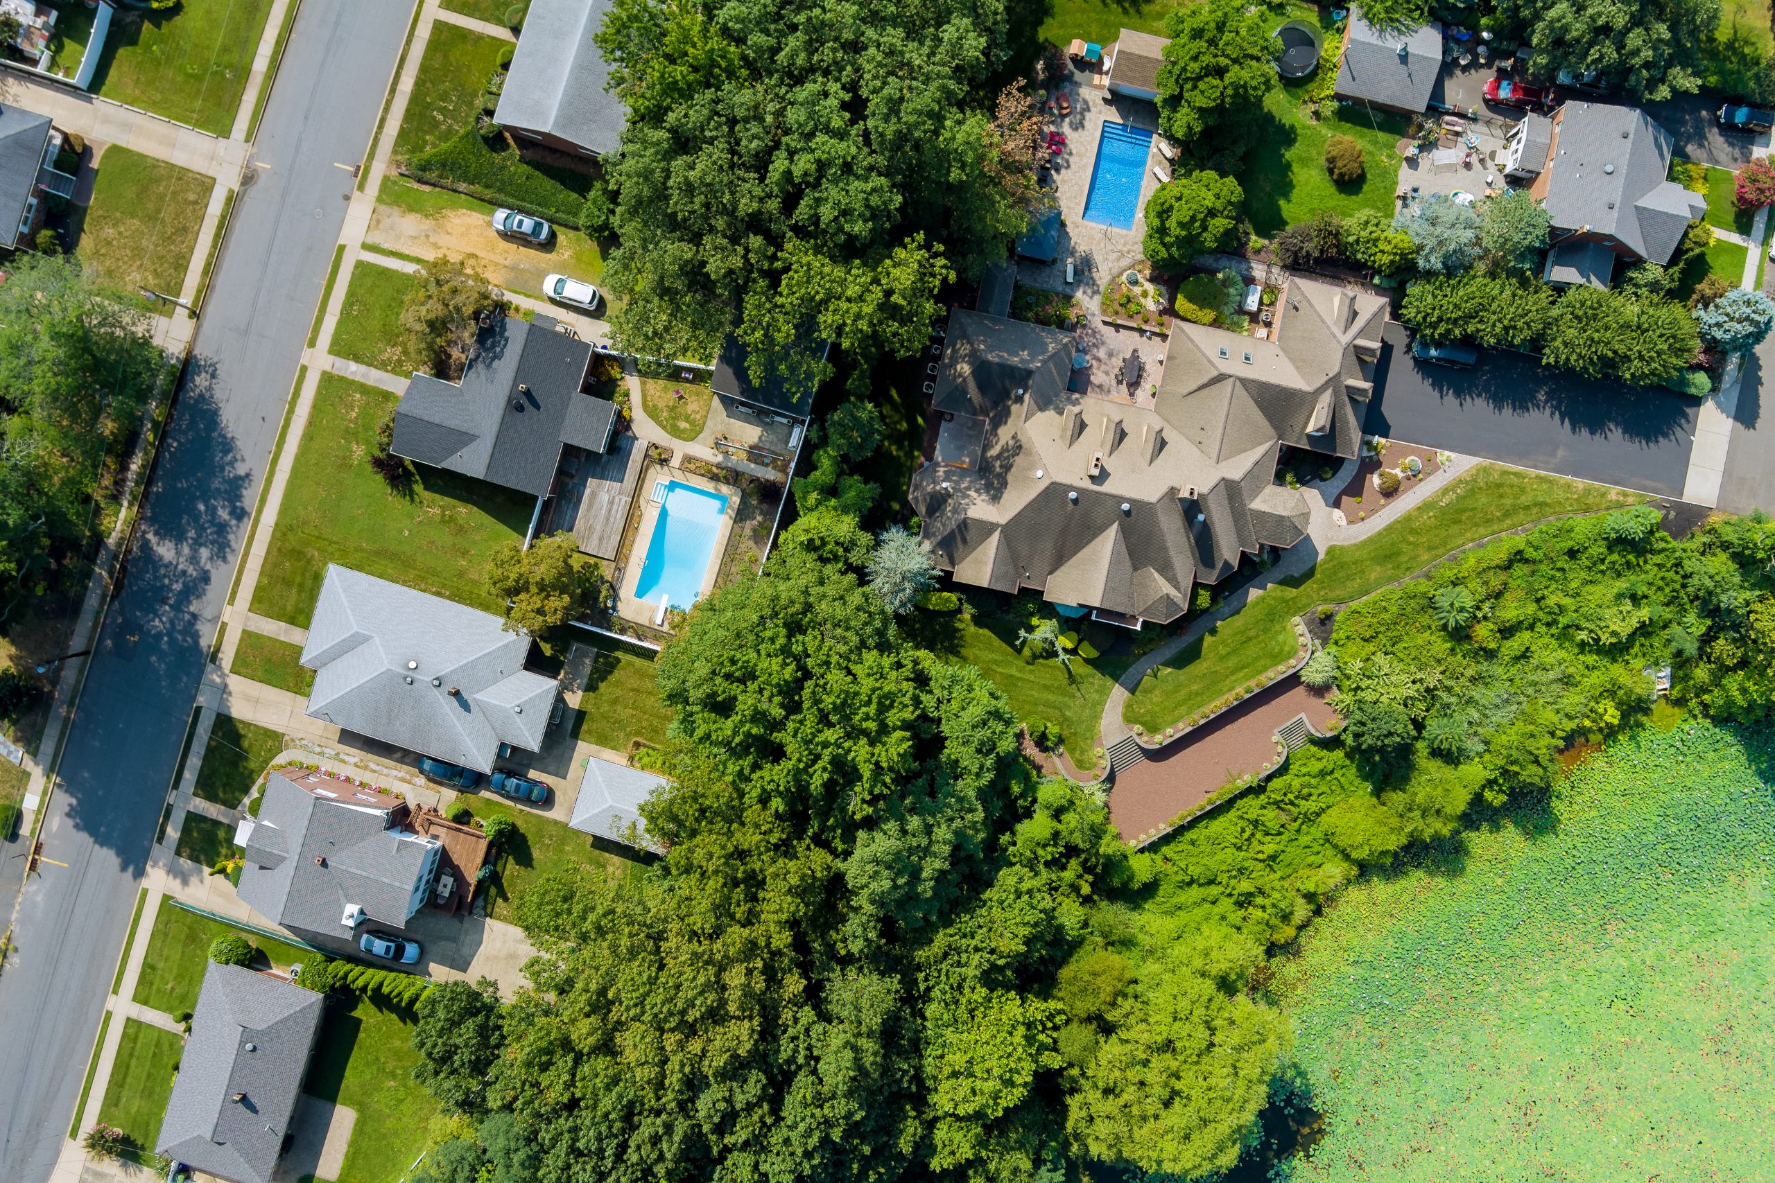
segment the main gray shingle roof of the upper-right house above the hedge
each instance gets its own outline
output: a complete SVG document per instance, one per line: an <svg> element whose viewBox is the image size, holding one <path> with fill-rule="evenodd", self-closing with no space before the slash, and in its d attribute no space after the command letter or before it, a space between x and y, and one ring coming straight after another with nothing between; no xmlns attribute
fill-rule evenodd
<svg viewBox="0 0 1775 1183"><path fill-rule="evenodd" d="M1704 195L1667 179L1670 149L1670 133L1635 106L1566 103L1542 177L1555 229L1590 227L1642 259L1668 262L1688 223L1708 215Z"/></svg>

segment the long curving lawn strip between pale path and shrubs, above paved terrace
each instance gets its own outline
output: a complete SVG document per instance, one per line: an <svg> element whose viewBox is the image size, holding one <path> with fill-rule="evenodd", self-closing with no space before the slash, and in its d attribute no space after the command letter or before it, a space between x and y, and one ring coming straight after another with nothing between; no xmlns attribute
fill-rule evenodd
<svg viewBox="0 0 1775 1183"><path fill-rule="evenodd" d="M1305 576L1269 587L1246 608L1148 676L1124 718L1164 731L1294 656L1289 621L1406 578L1466 543L1539 518L1644 500L1638 493L1479 465L1379 534L1333 546Z"/></svg>

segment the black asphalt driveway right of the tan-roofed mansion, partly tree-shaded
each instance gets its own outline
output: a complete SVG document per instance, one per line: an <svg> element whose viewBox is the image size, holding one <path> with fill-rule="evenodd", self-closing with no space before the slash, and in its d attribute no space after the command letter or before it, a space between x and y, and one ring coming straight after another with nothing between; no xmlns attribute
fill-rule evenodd
<svg viewBox="0 0 1775 1183"><path fill-rule="evenodd" d="M1502 349L1473 369L1424 365L1388 321L1367 431L1519 468L1683 497L1700 403L1587 381Z"/></svg>

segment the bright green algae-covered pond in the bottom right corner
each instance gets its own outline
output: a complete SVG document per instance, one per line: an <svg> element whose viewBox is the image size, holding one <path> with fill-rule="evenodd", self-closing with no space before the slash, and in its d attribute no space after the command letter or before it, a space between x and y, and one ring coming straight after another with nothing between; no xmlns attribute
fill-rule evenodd
<svg viewBox="0 0 1775 1183"><path fill-rule="evenodd" d="M1324 1126L1273 1178L1775 1179L1771 754L1644 729L1344 890L1274 963Z"/></svg>

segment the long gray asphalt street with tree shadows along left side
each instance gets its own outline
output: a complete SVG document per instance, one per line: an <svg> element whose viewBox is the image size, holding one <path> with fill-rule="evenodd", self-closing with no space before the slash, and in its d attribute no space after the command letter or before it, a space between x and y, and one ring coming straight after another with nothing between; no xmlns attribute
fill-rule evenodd
<svg viewBox="0 0 1775 1183"><path fill-rule="evenodd" d="M0 1179L55 1167L412 0L302 0L0 975ZM57 866L66 864L66 866ZM7 901L11 903L11 901Z"/></svg>

